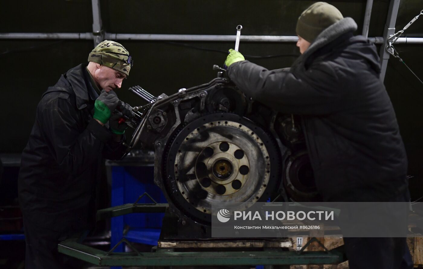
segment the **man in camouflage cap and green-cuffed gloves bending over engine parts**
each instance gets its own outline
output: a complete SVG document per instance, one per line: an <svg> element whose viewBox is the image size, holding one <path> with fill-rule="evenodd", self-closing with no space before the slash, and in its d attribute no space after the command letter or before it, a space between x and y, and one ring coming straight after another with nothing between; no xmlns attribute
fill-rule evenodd
<svg viewBox="0 0 423 269"><path fill-rule="evenodd" d="M69 69L43 94L22 152L18 187L27 269L82 268L58 253L58 243L93 227L104 158L124 154L127 125L119 119L133 112L113 90L129 75L132 57L105 40L88 62Z"/></svg>

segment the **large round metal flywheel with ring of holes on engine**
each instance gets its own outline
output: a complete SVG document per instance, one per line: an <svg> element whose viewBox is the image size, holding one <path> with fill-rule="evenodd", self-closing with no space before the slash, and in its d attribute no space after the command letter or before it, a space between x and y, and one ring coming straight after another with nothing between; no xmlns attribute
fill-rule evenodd
<svg viewBox="0 0 423 269"><path fill-rule="evenodd" d="M238 115L198 118L170 145L168 183L173 197L183 211L204 215L220 202L266 200L279 178L274 145L261 128Z"/></svg>

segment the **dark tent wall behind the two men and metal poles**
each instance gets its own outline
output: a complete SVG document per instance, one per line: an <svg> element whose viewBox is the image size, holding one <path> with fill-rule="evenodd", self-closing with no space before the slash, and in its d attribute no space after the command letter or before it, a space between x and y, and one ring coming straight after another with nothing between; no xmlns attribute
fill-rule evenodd
<svg viewBox="0 0 423 269"><path fill-rule="evenodd" d="M0 32L85 33L92 32L92 9L89 0L15 0L3 1L0 8ZM298 16L314 1L306 0L101 0L103 29L108 33L211 34L235 35L236 25L243 25L243 35L294 36ZM365 0L328 1L342 14L352 17L361 34ZM369 37L382 36L389 0L375 0ZM402 29L423 9L421 0L402 0L396 30ZM423 16L404 36L423 37ZM226 51L234 42L121 42L135 59L135 65L119 97L131 105L143 100L126 91L141 85L154 95L171 94L213 79L213 64L223 65ZM212 52L181 46L219 49ZM420 44L398 44L405 63L420 77L422 49ZM35 118L36 106L48 86L60 74L85 63L93 48L91 40L0 39L0 63L3 122L0 132L0 154L20 153ZM297 55L294 43L241 42L244 55L284 55L270 59L249 59L268 69L290 66ZM423 195L423 97L422 84L397 59L389 60L385 85L396 110L401 135L409 157L412 198Z"/></svg>

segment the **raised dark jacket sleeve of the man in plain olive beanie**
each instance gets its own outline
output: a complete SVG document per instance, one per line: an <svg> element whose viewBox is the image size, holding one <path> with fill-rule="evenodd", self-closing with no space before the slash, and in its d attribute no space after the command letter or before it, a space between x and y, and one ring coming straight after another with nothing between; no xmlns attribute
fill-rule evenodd
<svg viewBox="0 0 423 269"><path fill-rule="evenodd" d="M282 113L323 115L342 107L342 87L330 63L295 74L241 61L229 66L228 75L247 96Z"/></svg>

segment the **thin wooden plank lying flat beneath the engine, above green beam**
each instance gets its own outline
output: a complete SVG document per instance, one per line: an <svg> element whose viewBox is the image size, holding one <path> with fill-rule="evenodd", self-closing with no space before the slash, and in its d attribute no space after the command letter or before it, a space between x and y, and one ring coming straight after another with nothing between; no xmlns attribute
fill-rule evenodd
<svg viewBox="0 0 423 269"><path fill-rule="evenodd" d="M272 241L234 240L234 241L159 241L161 248L206 248L206 247L292 247L291 239Z"/></svg>

